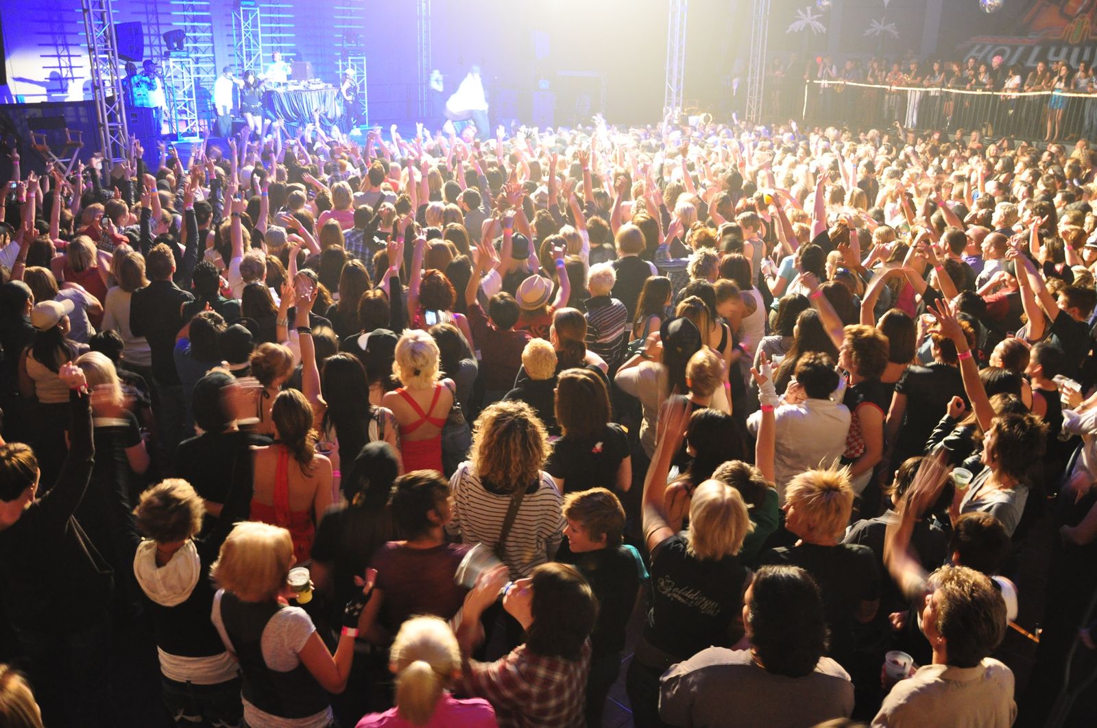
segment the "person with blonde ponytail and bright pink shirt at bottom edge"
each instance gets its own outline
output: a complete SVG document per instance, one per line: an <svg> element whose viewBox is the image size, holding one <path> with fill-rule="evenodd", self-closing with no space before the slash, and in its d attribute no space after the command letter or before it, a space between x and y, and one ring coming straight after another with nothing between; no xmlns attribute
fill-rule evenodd
<svg viewBox="0 0 1097 728"><path fill-rule="evenodd" d="M396 707L365 716L355 728L498 725L486 699L459 701L450 694L461 676L461 647L442 619L421 616L405 622L388 650L388 669L396 675Z"/></svg>

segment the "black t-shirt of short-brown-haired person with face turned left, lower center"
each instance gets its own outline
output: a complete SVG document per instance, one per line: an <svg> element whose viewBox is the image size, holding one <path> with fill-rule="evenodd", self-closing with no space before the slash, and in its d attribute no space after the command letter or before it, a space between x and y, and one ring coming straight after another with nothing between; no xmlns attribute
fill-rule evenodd
<svg viewBox="0 0 1097 728"><path fill-rule="evenodd" d="M647 570L640 553L632 546L600 548L585 554L568 553L565 564L572 564L598 598L598 619L590 635L593 655L611 655L624 649L624 633L636 605L640 584Z"/></svg>

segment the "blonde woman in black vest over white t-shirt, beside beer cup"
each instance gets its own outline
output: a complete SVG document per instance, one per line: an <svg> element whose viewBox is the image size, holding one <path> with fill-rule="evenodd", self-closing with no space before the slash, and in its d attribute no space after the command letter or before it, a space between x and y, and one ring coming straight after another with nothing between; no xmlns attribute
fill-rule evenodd
<svg viewBox="0 0 1097 728"><path fill-rule="evenodd" d="M358 618L373 589L362 580L343 610L343 628L332 656L312 617L297 606L286 580L294 564L285 528L245 521L236 524L211 569L217 584L211 619L244 676L244 720L249 726L327 728L333 718L329 693L347 687L354 659Z"/></svg>

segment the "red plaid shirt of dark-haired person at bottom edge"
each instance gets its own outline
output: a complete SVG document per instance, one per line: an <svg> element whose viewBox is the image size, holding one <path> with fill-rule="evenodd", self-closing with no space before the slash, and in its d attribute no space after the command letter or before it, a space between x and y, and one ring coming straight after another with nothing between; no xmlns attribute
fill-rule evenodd
<svg viewBox="0 0 1097 728"><path fill-rule="evenodd" d="M485 697L499 728L584 728L590 640L578 660L543 657L519 645L495 662L468 660L460 692Z"/></svg>

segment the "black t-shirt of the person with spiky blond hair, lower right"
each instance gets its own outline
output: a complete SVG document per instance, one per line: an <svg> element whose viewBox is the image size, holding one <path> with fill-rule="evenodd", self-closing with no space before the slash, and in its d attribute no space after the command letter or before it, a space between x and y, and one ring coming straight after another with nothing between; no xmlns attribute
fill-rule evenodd
<svg viewBox="0 0 1097 728"><path fill-rule="evenodd" d="M847 670L853 651L857 611L861 602L880 599L880 568L872 549L856 544L782 546L761 555L761 565L799 566L812 575L823 593L830 628L830 657Z"/></svg>

